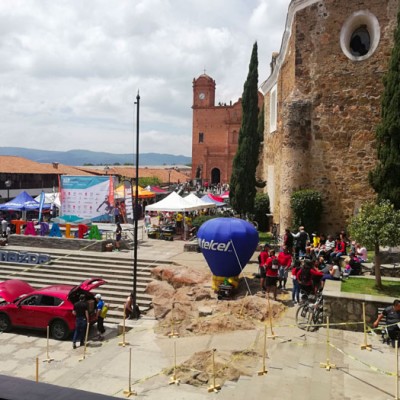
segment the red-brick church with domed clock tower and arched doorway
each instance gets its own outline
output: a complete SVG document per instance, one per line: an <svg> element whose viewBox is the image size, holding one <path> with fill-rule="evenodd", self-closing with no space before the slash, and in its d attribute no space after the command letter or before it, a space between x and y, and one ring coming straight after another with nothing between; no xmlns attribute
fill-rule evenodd
<svg viewBox="0 0 400 400"><path fill-rule="evenodd" d="M207 74L193 79L192 179L229 183L238 147L242 104L215 105L215 81Z"/></svg>

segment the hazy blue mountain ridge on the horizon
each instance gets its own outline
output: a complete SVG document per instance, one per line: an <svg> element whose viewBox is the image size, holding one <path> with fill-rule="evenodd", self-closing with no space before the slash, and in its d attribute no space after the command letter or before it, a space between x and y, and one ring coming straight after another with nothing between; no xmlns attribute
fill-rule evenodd
<svg viewBox="0 0 400 400"><path fill-rule="evenodd" d="M0 147L2 156L19 156L28 160L52 163L59 162L65 165L77 166L84 164L93 165L121 165L133 164L135 154L113 154L89 150L51 151L26 149L22 147ZM191 157L174 156L172 154L144 153L139 155L139 165L185 165L192 162Z"/></svg>

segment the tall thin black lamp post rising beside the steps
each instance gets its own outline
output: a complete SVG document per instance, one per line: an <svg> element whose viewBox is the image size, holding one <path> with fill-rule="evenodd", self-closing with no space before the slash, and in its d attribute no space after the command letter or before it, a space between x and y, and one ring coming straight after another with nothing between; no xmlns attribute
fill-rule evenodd
<svg viewBox="0 0 400 400"><path fill-rule="evenodd" d="M138 319L140 310L137 304L136 286L137 286L137 242L138 242L138 199L139 199L139 109L140 96L139 91L136 96L136 172L135 172L135 202L133 209L134 236L133 236L133 291L132 291L132 317ZM132 186L131 186L132 187Z"/></svg>

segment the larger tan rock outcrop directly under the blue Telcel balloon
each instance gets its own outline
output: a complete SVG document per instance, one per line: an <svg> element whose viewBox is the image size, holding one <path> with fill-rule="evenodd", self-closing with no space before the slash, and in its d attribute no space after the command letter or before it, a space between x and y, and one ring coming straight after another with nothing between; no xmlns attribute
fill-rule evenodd
<svg viewBox="0 0 400 400"><path fill-rule="evenodd" d="M269 318L279 318L285 306L262 295L259 280L241 278L230 299L219 300L211 289L208 271L182 267L154 268L146 293L153 297L154 315L160 321L156 332L179 336L254 329ZM249 295L250 293L256 293Z"/></svg>

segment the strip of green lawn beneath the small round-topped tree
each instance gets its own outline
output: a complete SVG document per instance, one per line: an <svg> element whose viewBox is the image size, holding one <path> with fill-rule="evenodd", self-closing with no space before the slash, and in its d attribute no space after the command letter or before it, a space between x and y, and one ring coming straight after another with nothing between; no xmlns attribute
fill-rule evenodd
<svg viewBox="0 0 400 400"><path fill-rule="evenodd" d="M370 294L373 296L398 297L400 293L399 281L387 281L382 279L382 289L375 287L375 279L357 278L342 282L342 292Z"/></svg>

